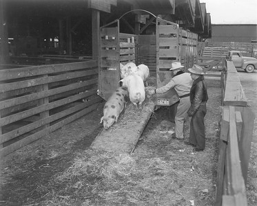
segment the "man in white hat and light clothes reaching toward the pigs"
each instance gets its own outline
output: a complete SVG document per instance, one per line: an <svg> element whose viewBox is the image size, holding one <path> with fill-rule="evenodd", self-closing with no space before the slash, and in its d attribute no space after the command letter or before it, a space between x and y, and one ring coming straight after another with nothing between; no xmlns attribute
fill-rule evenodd
<svg viewBox="0 0 257 206"><path fill-rule="evenodd" d="M176 128L175 135L173 137L174 139L178 139L179 141L184 140L183 126L187 117L187 111L190 107L189 93L193 83L190 73L185 73L184 71L181 71L183 67L184 66L181 65L181 62L172 62L172 68L169 70L173 72L174 76L169 81L169 83L158 89L152 89L148 91L150 95L153 95L154 93L165 93L169 89L174 88L176 93L180 97L180 101L175 115Z"/></svg>

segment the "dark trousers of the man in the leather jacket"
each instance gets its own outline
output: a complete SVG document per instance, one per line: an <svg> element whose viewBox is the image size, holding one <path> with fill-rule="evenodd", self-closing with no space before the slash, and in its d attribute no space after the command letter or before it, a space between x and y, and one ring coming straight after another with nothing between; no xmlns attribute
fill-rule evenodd
<svg viewBox="0 0 257 206"><path fill-rule="evenodd" d="M205 122L206 104L201 105L194 113L190 122L189 143L194 144L198 149L205 148Z"/></svg>

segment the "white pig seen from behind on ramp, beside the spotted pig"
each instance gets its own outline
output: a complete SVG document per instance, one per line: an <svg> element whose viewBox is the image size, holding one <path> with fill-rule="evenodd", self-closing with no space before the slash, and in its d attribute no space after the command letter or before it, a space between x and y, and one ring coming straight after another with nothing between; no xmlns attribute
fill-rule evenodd
<svg viewBox="0 0 257 206"><path fill-rule="evenodd" d="M142 108L142 103L145 101L145 85L142 78L132 73L120 82L123 82L123 87L127 87L130 101L136 106L136 109L138 109L137 103L139 108Z"/></svg>

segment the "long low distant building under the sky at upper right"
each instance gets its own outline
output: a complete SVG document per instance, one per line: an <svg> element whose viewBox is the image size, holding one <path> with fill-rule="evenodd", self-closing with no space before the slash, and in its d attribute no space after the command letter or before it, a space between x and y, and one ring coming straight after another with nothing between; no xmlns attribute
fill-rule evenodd
<svg viewBox="0 0 257 206"><path fill-rule="evenodd" d="M255 43L257 24L212 24L212 38L209 42Z"/></svg>

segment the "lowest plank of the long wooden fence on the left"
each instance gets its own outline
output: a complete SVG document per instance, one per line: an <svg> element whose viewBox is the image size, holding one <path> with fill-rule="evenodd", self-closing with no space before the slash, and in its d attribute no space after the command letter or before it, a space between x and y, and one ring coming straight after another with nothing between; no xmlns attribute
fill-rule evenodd
<svg viewBox="0 0 257 206"><path fill-rule="evenodd" d="M79 111L79 113L75 113L74 115L71 115L70 117L67 117L60 122L49 126L48 128L45 128L43 130L40 130L37 133L34 133L28 137L25 137L24 139L21 139L20 141L14 142L14 144L11 144L10 146L6 146L2 149L0 149L0 157L3 157L5 155L8 155L9 153L13 152L14 150L17 150L27 144L30 144L32 141L35 141L45 135L48 135L49 133L52 133L54 130L61 128L65 124L69 124L70 122L73 122L75 119L78 119L79 117L82 117L83 115L86 115L87 113L90 113L91 111L94 111L96 109L98 104L93 104L92 106L88 108L84 108L82 111Z"/></svg>

